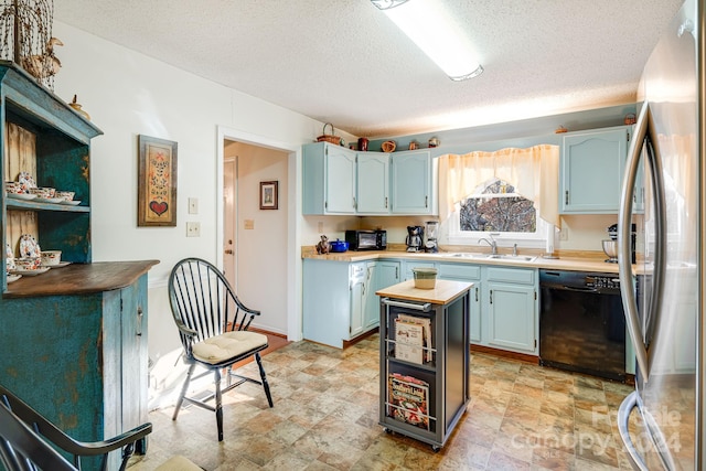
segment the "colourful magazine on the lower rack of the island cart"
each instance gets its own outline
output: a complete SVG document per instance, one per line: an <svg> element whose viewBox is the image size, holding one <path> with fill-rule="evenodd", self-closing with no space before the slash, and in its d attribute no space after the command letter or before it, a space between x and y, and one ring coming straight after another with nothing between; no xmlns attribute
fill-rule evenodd
<svg viewBox="0 0 706 471"><path fill-rule="evenodd" d="M387 376L388 416L425 430L429 428L429 384L413 376Z"/></svg>

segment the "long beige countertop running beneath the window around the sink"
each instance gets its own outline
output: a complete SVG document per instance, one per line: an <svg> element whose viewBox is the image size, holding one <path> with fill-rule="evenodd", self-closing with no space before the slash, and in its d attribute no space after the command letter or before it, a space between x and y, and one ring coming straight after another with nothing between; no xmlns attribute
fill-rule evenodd
<svg viewBox="0 0 706 471"><path fill-rule="evenodd" d="M442 263L460 263L460 264L474 264L474 265L498 265L498 266L515 266L527 268L547 268L556 270L571 270L571 271L597 271L606 274L617 274L618 264L610 264L606 261L606 254L602 251L590 250L564 250L557 253L559 258L544 258L541 250L520 250L520 255L523 257L517 258L464 258L454 257L453 254L459 253L473 253L478 254L482 250L468 250L468 247L452 247L449 250L439 250L436 254L427 253L409 253L402 248L392 247L387 250L370 250L370 251L344 251L327 255L318 255L314 246L306 246L301 249L302 258L313 258L320 260L332 261L365 261L376 260L381 258L402 258L411 260L429 260L429 261L442 261ZM509 251L500 250L501 254L509 254ZM490 253L488 253L490 255ZM536 257L531 261L525 260L524 256ZM634 267L633 267L634 271Z"/></svg>

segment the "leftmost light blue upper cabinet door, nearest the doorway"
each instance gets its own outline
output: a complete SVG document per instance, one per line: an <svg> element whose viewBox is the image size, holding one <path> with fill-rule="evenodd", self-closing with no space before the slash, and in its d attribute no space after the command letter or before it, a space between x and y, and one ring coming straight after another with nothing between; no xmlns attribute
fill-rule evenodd
<svg viewBox="0 0 706 471"><path fill-rule="evenodd" d="M327 214L355 213L355 152L327 147Z"/></svg>

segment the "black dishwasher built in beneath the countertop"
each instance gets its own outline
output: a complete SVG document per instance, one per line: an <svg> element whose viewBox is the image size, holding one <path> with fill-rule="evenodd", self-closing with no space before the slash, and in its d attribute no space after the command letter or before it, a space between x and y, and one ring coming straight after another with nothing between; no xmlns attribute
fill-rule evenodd
<svg viewBox="0 0 706 471"><path fill-rule="evenodd" d="M539 288L539 363L624 382L618 275L542 269Z"/></svg>

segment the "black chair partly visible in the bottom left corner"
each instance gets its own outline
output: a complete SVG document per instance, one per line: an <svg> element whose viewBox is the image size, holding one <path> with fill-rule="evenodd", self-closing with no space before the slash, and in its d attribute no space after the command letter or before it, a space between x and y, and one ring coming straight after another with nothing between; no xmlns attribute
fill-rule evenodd
<svg viewBox="0 0 706 471"><path fill-rule="evenodd" d="M136 442L143 447L143 439L151 431L152 424L143 424L108 440L77 441L0 386L0 463L9 471L35 471L38 468L52 471L79 470L82 458L88 457L103 457L100 469L106 470L108 453L120 449L122 471L136 449ZM55 448L73 456L73 463Z"/></svg>

